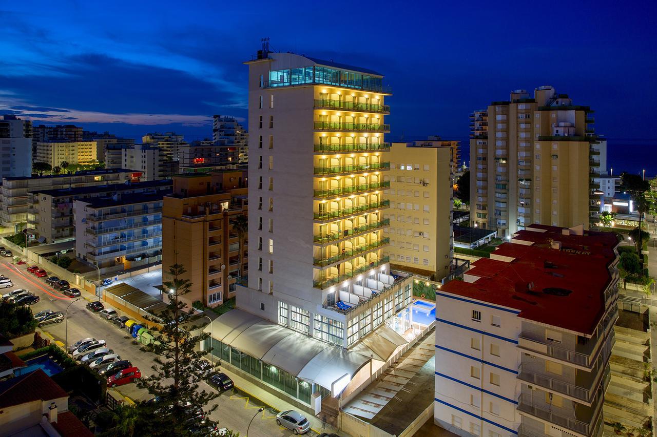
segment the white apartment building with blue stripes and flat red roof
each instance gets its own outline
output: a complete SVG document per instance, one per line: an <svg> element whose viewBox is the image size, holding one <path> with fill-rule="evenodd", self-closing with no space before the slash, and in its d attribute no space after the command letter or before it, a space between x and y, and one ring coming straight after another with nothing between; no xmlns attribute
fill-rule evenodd
<svg viewBox="0 0 657 437"><path fill-rule="evenodd" d="M618 240L532 224L436 292L434 421L461 436L601 436Z"/></svg>

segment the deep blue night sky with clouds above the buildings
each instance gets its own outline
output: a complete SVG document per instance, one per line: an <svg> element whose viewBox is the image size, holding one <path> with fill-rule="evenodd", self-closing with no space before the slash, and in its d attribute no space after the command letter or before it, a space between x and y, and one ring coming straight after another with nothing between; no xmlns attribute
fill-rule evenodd
<svg viewBox="0 0 657 437"><path fill-rule="evenodd" d="M610 152L632 167L657 161L655 16L654 1L7 1L0 114L210 136L212 114L246 119L242 62L266 36L386 75L392 140L465 139L472 110L553 85L595 110L610 144L638 144Z"/></svg>

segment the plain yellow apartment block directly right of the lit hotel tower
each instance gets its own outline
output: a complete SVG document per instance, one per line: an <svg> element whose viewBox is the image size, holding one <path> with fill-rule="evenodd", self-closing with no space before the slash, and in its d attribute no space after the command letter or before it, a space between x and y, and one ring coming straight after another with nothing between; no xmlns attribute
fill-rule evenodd
<svg viewBox="0 0 657 437"><path fill-rule="evenodd" d="M394 142L390 149L390 268L442 280L452 260L453 149L440 141Z"/></svg>

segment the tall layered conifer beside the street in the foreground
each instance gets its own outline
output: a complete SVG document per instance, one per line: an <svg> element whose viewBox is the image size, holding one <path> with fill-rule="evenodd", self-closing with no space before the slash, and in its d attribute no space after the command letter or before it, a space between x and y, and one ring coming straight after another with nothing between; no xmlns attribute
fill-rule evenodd
<svg viewBox="0 0 657 437"><path fill-rule="evenodd" d="M196 436L204 435L198 413L203 406L219 396L216 392L199 390L198 383L206 376L198 367L198 362L208 354L207 350L194 350L196 344L209 337L208 333L194 335L199 329L196 322L199 316L192 308L180 300L191 291L191 282L181 278L187 272L181 264L169 268L171 281L162 283L168 291L169 302L166 310L149 318L158 323L150 327L154 341L143 350L156 355L152 365L153 375L137 379L139 388L146 388L156 396L157 402L141 406L145 415L152 417L149 425L152 436ZM205 416L214 411L217 405L203 410Z"/></svg>

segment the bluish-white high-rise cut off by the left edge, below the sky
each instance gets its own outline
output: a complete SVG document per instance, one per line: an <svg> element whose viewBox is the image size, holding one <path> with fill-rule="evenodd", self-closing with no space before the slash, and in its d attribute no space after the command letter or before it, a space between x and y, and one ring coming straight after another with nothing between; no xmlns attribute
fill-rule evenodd
<svg viewBox="0 0 657 437"><path fill-rule="evenodd" d="M32 176L32 123L16 115L0 119L0 178Z"/></svg>

